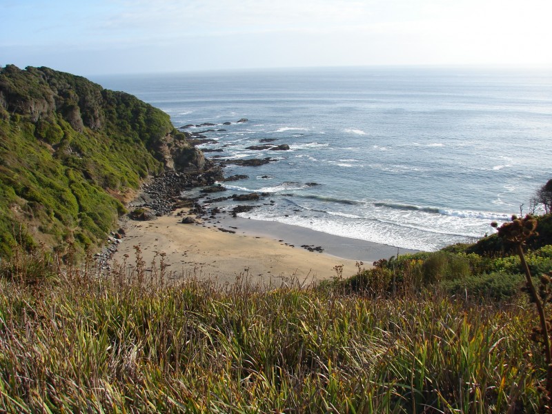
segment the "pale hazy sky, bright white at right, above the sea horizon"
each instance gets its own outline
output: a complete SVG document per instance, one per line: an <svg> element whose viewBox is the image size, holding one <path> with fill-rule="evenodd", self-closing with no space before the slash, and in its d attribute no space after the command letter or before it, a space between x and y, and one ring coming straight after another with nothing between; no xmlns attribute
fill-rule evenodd
<svg viewBox="0 0 552 414"><path fill-rule="evenodd" d="M0 65L552 68L551 0L0 0Z"/></svg>

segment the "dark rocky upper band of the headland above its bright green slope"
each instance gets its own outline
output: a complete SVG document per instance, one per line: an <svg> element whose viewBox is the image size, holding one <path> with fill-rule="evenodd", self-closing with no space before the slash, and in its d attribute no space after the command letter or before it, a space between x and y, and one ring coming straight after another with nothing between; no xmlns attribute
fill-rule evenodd
<svg viewBox="0 0 552 414"><path fill-rule="evenodd" d="M21 115L34 123L58 123L61 117L77 132L90 128L123 139L132 137L169 169L190 172L211 167L200 150L186 139L175 138L176 130L164 112L83 77L8 65L0 70L0 106L8 115Z"/></svg>

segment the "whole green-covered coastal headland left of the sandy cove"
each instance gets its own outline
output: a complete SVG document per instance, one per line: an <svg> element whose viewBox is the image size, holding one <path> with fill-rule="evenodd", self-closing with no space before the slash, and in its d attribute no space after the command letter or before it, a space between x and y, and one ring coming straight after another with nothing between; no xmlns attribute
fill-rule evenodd
<svg viewBox="0 0 552 414"><path fill-rule="evenodd" d="M146 177L216 167L169 116L50 68L0 68L0 257L101 246Z"/></svg>

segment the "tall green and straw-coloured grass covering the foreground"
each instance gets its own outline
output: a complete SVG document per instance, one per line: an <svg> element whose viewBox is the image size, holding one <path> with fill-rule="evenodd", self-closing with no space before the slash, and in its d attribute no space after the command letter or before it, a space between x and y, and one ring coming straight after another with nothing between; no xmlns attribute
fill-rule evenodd
<svg viewBox="0 0 552 414"><path fill-rule="evenodd" d="M372 298L246 277L169 283L137 250L111 277L0 281L0 410L522 413L538 406L529 305ZM538 358L540 353L535 352Z"/></svg>

